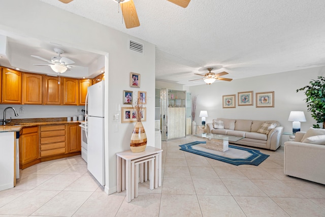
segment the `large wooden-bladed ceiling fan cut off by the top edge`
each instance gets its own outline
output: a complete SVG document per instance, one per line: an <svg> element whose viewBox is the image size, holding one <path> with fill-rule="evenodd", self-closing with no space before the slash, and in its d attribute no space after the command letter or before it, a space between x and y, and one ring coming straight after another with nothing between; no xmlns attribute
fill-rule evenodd
<svg viewBox="0 0 325 217"><path fill-rule="evenodd" d="M68 4L73 0L59 0L61 3ZM136 11L136 6L133 0L113 0L120 4L122 9L122 14L124 18L124 23L126 28L133 28L140 25L138 14ZM175 5L186 8L190 0L167 0Z"/></svg>

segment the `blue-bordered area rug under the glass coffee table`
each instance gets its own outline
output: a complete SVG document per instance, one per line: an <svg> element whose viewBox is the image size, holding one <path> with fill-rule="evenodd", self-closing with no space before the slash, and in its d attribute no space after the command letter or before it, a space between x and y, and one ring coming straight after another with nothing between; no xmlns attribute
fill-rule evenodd
<svg viewBox="0 0 325 217"><path fill-rule="evenodd" d="M259 150L234 145L229 145L229 150L225 152L212 150L205 146L206 142L195 141L180 145L180 150L199 154L207 158L212 158L236 166L243 164L258 166L269 157L268 154L261 153Z"/></svg>

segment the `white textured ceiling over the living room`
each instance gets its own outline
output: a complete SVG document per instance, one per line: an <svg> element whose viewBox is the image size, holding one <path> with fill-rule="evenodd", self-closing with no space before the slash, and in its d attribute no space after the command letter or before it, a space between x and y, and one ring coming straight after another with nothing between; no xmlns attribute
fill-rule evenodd
<svg viewBox="0 0 325 217"><path fill-rule="evenodd" d="M239 79L325 65L324 0L191 0L185 9L134 0L140 26L131 29L112 0L40 1L155 44L156 80L204 84L188 80L211 66Z"/></svg>

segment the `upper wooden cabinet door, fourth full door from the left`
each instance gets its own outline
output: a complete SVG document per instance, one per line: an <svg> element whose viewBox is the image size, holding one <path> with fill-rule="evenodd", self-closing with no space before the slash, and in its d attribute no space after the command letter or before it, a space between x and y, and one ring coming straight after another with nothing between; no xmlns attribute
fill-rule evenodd
<svg viewBox="0 0 325 217"><path fill-rule="evenodd" d="M75 78L62 78L62 104L78 105L79 80Z"/></svg>

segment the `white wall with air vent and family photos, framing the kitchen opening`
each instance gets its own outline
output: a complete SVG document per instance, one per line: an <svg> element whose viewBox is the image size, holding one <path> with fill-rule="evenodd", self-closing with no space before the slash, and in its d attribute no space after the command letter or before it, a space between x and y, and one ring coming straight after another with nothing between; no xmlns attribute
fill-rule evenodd
<svg viewBox="0 0 325 217"><path fill-rule="evenodd" d="M147 91L148 145L154 146L155 46L39 1L0 0L0 29L105 55L105 191L116 191L116 153L129 149L134 123L113 122L123 90ZM128 40L144 44L144 54L128 50ZM140 88L129 86L129 73L141 74ZM49 107L39 107L38 109ZM54 108L54 107L53 107ZM52 110L52 111L55 111ZM69 111L68 111L69 112ZM117 132L115 132L117 131Z"/></svg>

